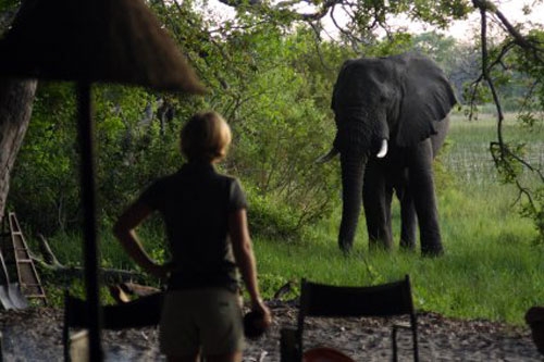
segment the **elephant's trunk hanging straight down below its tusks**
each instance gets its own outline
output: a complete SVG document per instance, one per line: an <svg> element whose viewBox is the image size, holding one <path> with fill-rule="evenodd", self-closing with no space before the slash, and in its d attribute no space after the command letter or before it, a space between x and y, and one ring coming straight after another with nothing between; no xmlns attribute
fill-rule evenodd
<svg viewBox="0 0 544 362"><path fill-rule="evenodd" d="M366 165L366 157L341 153L343 209L338 246L344 252L348 252L354 245L362 204L362 178Z"/></svg>

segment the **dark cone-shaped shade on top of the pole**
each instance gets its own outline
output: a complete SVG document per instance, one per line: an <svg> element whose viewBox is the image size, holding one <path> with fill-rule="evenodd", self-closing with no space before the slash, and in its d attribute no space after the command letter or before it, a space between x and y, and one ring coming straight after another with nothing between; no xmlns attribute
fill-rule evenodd
<svg viewBox="0 0 544 362"><path fill-rule="evenodd" d="M25 0L0 54L4 76L205 91L144 0Z"/></svg>

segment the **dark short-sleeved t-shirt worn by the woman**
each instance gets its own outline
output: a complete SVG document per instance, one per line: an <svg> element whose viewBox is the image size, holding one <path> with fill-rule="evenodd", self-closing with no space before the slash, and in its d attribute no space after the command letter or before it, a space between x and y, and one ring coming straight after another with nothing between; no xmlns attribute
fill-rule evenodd
<svg viewBox="0 0 544 362"><path fill-rule="evenodd" d="M187 163L154 182L140 201L164 220L175 265L169 289L238 286L228 214L247 202L236 178L211 164Z"/></svg>

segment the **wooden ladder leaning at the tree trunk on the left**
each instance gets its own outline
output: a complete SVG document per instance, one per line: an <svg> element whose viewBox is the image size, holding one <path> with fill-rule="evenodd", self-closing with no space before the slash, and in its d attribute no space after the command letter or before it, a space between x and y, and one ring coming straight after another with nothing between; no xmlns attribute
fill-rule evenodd
<svg viewBox="0 0 544 362"><path fill-rule="evenodd" d="M27 298L38 299L46 305L46 292L14 212L9 212L8 217L4 217L0 236L0 249L4 253L12 279L16 276L21 290Z"/></svg>

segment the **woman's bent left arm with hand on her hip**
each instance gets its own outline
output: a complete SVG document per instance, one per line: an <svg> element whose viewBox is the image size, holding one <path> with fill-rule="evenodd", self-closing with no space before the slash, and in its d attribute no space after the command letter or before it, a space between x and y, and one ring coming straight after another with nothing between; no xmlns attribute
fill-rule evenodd
<svg viewBox="0 0 544 362"><path fill-rule="evenodd" d="M168 269L163 265L159 265L154 260L149 258L136 234L136 227L152 212L153 210L143 202L137 201L133 203L119 217L113 226L113 234L136 264L141 266L141 269L149 274L159 278L164 278L168 275Z"/></svg>

